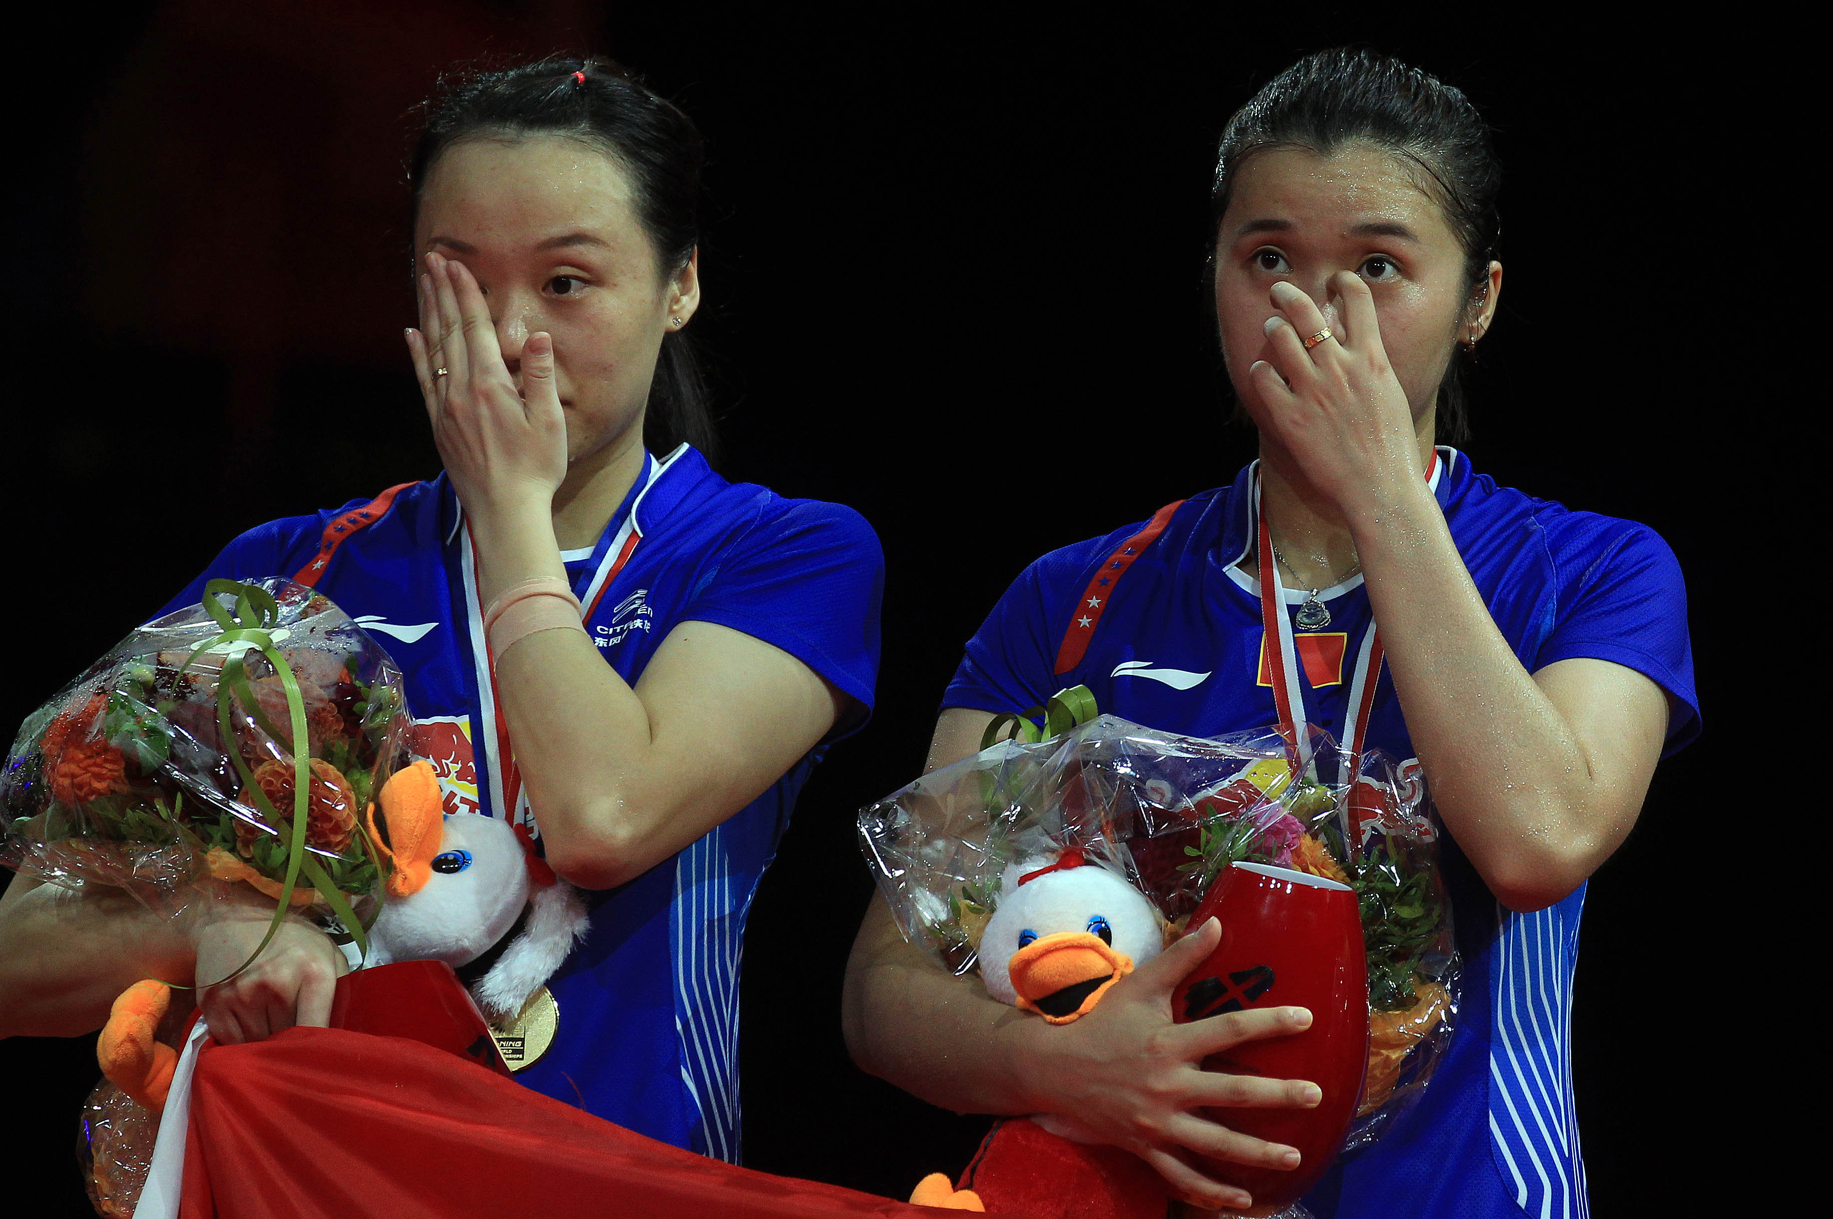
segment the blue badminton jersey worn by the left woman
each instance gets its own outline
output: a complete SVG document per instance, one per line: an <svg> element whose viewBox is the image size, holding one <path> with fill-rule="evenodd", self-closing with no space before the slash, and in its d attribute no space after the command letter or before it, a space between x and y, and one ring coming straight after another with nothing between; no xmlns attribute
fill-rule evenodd
<svg viewBox="0 0 1833 1219"><path fill-rule="evenodd" d="M444 475L275 521L233 541L170 609L194 605L216 576L315 585L401 667L414 753L433 761L447 812L506 816L462 526ZM566 557L592 610L588 632L631 686L676 623L711 621L790 653L858 700L830 741L871 711L884 555L851 508L726 482L682 445L664 462L645 458L598 546ZM830 741L673 860L587 895L592 929L548 983L557 1038L517 1080L651 1138L739 1160L744 918ZM526 805L513 812L528 816Z"/></svg>

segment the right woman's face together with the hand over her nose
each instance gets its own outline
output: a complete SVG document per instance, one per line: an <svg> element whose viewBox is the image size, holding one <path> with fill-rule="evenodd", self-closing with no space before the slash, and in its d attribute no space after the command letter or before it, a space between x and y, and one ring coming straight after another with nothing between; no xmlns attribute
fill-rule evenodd
<svg viewBox="0 0 1833 1219"><path fill-rule="evenodd" d="M1254 156L1217 231L1215 310L1235 392L1261 434L1342 502L1417 477L1454 343L1487 326L1465 251L1415 172L1371 145ZM1329 339L1305 348L1322 330Z"/></svg>

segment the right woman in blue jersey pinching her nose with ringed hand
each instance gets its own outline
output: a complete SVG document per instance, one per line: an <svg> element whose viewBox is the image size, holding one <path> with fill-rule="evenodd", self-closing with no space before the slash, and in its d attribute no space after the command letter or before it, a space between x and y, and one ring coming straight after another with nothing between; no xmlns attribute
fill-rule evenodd
<svg viewBox="0 0 1833 1219"><path fill-rule="evenodd" d="M1294 719L1413 759L1446 829L1463 1008L1421 1102L1307 1197L1320 1219L1586 1214L1567 1047L1584 885L1657 759L1697 731L1666 544L1498 488L1433 444L1461 438L1459 361L1496 317L1498 178L1459 92L1367 51L1312 55L1235 114L1215 312L1259 460L1026 568L968 643L929 753L948 764L993 713L1081 682L1103 711L1199 735L1276 722L1278 691ZM1268 592L1292 592L1263 618L1274 574ZM1245 1208L1201 1157L1290 1168L1296 1151L1201 1109L1320 1094L1197 1069L1309 1023L1268 1008L1175 1027L1171 986L1215 937L1195 929L1050 1027L931 966L874 902L849 1043L926 1100L1048 1115L1191 1201Z"/></svg>

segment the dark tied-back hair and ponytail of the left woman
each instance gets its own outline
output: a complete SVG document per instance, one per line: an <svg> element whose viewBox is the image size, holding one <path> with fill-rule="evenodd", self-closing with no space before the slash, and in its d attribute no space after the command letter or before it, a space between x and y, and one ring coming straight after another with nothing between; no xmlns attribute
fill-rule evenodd
<svg viewBox="0 0 1833 1219"><path fill-rule="evenodd" d="M673 275L700 244L700 132L675 103L623 66L601 59L543 59L500 71L467 70L440 81L409 163L414 218L427 170L455 143L495 136L568 136L629 176L636 216L656 264ZM412 231L412 229L409 229ZM682 442L717 460L719 434L706 378L686 332L662 337L649 385L643 445L656 455Z"/></svg>

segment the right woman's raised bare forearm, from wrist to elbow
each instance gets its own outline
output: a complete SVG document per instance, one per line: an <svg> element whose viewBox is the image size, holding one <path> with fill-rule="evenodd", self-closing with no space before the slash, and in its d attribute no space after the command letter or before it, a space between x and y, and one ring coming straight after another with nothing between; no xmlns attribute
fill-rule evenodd
<svg viewBox="0 0 1833 1219"><path fill-rule="evenodd" d="M1424 484L1397 480L1345 517L1439 814L1505 906L1560 900L1628 834L1646 774L1595 766L1496 629Z"/></svg>

